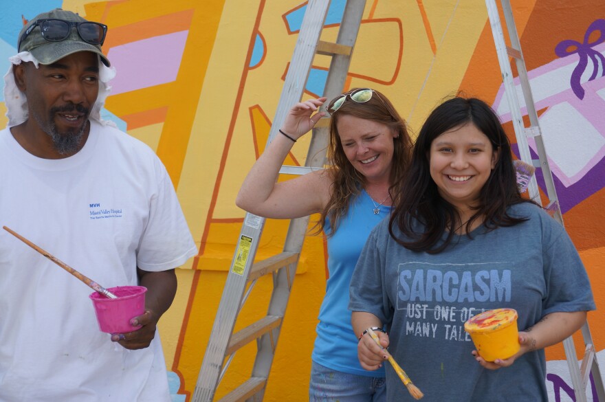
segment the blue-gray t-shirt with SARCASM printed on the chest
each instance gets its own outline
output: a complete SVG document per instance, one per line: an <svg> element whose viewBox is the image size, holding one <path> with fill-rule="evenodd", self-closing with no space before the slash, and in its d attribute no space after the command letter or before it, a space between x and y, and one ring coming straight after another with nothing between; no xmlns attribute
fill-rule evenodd
<svg viewBox="0 0 605 402"><path fill-rule="evenodd" d="M395 361L426 401L547 401L544 350L508 368L486 370L464 322L482 311L518 311L523 331L557 311L595 309L588 276L564 228L536 205L509 208L529 221L478 227L439 254L411 252L388 234L388 219L370 234L351 280L351 311L387 325ZM400 238L401 232L394 227ZM387 364L387 400L413 401Z"/></svg>

